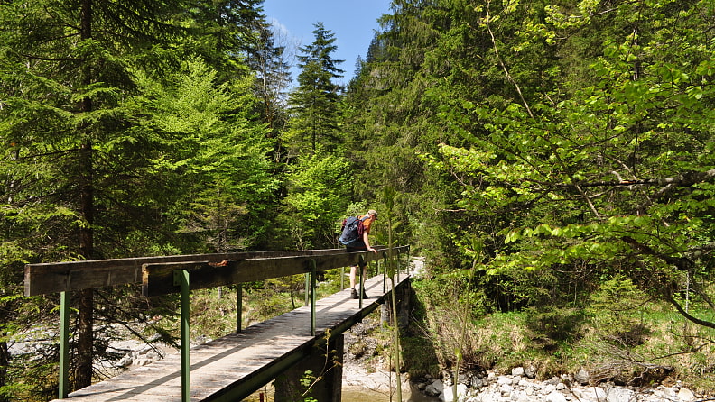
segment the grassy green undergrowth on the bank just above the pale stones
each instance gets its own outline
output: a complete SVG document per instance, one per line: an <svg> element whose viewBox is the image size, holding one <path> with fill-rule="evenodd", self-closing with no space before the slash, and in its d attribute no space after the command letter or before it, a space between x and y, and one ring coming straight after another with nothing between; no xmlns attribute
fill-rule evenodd
<svg viewBox="0 0 715 402"><path fill-rule="evenodd" d="M604 283L583 307L525 306L484 313L479 294L463 295L417 282L413 337L404 344L407 370L433 374L419 359L429 348L441 370L453 370L457 351L466 370L510 372L532 366L539 379L586 370L592 384L670 385L675 381L703 394L715 389L715 330L692 324L669 305L657 303L627 279ZM456 290L455 290L456 291ZM452 302L449 302L452 300ZM464 308L470 307L464 335ZM715 314L692 301L690 313ZM416 328L416 330L415 330Z"/></svg>

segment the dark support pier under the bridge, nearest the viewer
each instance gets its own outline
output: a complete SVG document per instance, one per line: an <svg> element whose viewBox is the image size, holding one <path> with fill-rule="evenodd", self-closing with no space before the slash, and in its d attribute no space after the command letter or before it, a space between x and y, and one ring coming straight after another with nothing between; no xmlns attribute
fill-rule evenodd
<svg viewBox="0 0 715 402"><path fill-rule="evenodd" d="M293 402L313 397L318 402L340 402L344 336L330 336L328 343L311 350L311 355L275 379L275 402ZM310 371L310 373L308 372ZM317 378L320 378L316 381ZM303 379L310 379L306 384ZM310 391L303 393L310 387Z"/></svg>

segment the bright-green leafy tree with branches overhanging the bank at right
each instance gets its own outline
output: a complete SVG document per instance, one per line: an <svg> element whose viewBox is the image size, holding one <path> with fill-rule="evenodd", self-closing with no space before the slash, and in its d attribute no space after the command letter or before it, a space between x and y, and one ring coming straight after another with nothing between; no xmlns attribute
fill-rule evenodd
<svg viewBox="0 0 715 402"><path fill-rule="evenodd" d="M469 144L444 143L434 166L459 178L460 208L493 216L469 227L492 244L484 270L622 273L714 327L676 296L689 284L713 306L694 285L712 270L714 43L701 34L711 10L701 2L544 9L478 8L473 29L509 90L498 100L462 98L442 114ZM512 17L523 31L503 36ZM590 41L594 31L602 44ZM548 59L554 50L562 63L539 76L525 70L533 63L520 53ZM591 78L571 69L575 59L592 61Z"/></svg>

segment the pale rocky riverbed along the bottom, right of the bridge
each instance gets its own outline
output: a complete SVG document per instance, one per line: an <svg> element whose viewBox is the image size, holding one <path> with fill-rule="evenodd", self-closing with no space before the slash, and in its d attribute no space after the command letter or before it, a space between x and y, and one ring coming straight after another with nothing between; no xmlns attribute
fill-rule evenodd
<svg viewBox="0 0 715 402"><path fill-rule="evenodd" d="M376 389L387 392L390 381L395 388L395 373L377 357L377 341L368 333L375 324L360 323L346 333L343 386ZM609 383L588 385L588 373L563 375L537 380L533 368L517 367L509 373L469 372L457 380L458 398L453 396L449 373L443 378L408 379L403 375L405 394L420 393L432 399L411 397L410 400L452 402L700 402L715 401L712 395L698 395L676 382L673 386L652 388L622 387ZM389 399L388 399L389 400Z"/></svg>

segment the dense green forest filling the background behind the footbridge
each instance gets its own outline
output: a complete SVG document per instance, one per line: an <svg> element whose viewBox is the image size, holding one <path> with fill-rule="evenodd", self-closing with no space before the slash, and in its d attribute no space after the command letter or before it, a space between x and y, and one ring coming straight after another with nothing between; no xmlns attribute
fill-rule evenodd
<svg viewBox="0 0 715 402"><path fill-rule="evenodd" d="M715 3L393 0L346 87L330 22L291 87L261 3L0 2L0 401L56 394L55 349L8 352L57 319L24 264L339 247L344 216L393 201L445 367L494 364L452 334L511 313L552 371L584 328L644 345L645 310L685 340L654 353L714 353ZM74 388L109 322L175 312L74 297Z"/></svg>

